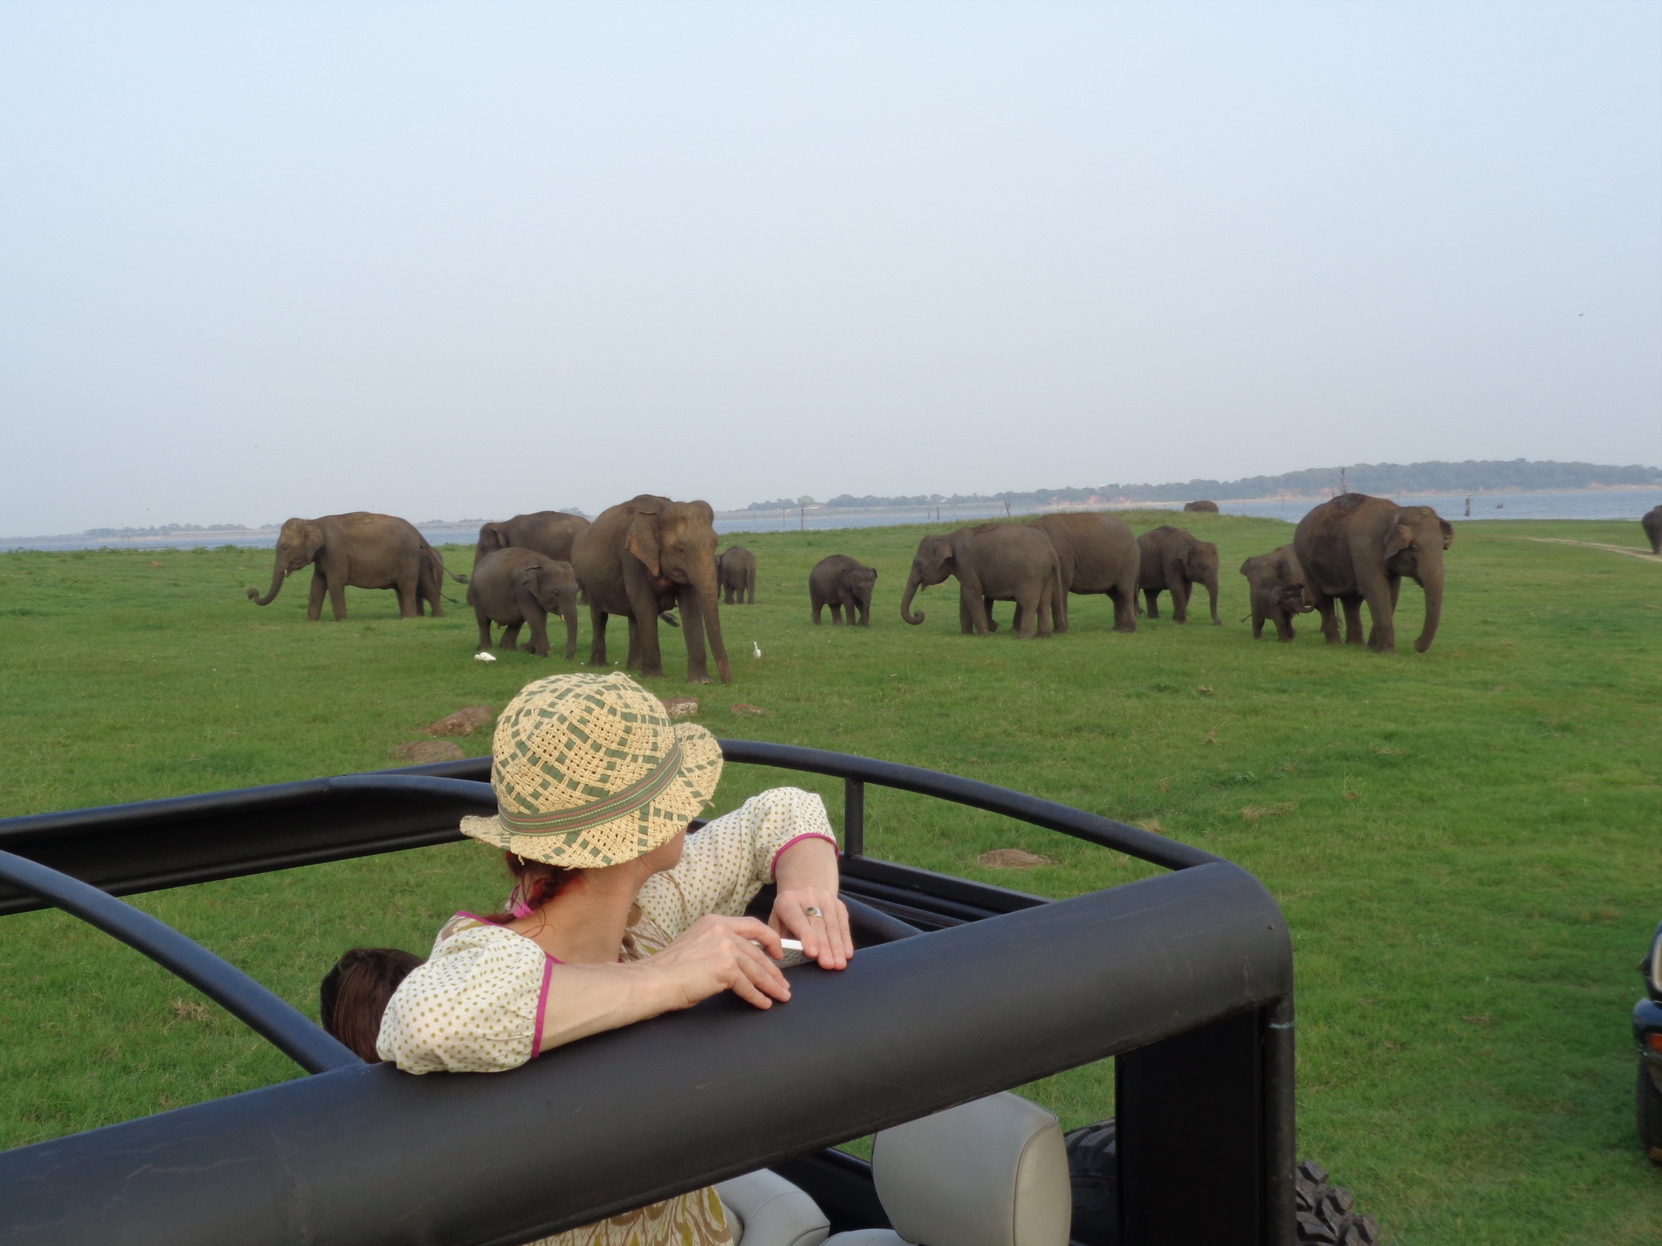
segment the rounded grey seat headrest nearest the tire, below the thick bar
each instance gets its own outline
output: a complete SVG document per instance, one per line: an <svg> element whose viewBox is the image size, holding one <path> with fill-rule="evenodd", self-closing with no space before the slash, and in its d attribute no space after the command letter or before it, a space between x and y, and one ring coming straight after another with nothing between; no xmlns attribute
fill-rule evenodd
<svg viewBox="0 0 1662 1246"><path fill-rule="evenodd" d="M1019 1095L883 1130L871 1173L894 1228L838 1233L826 1246L1067 1246L1062 1125Z"/></svg>

